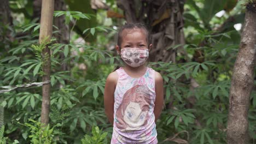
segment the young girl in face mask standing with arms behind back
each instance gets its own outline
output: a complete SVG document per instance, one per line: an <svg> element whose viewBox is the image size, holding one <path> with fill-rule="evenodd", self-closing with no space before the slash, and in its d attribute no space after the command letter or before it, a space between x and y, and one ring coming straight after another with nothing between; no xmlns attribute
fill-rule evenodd
<svg viewBox="0 0 256 144"><path fill-rule="evenodd" d="M104 91L104 107L113 125L111 143L158 143L155 122L164 100L161 75L148 68L152 44L141 23L124 25L115 47L125 66L110 73Z"/></svg>

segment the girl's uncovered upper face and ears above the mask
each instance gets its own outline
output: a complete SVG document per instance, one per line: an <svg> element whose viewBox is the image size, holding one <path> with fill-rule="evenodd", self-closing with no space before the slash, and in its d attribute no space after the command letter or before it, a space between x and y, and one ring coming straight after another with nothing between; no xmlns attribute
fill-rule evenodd
<svg viewBox="0 0 256 144"><path fill-rule="evenodd" d="M120 52L121 49L125 48L139 48L139 49L149 49L152 44L147 43L147 35L143 29L133 28L124 29L122 32L122 43L121 47L116 47L117 51Z"/></svg>

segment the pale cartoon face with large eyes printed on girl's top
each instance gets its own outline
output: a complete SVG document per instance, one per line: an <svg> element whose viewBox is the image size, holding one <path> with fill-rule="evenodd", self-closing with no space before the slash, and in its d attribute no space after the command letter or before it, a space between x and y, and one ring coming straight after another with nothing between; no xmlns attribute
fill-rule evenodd
<svg viewBox="0 0 256 144"><path fill-rule="evenodd" d="M136 130L144 124L148 111L142 111L138 103L130 102L123 111L126 130Z"/></svg>

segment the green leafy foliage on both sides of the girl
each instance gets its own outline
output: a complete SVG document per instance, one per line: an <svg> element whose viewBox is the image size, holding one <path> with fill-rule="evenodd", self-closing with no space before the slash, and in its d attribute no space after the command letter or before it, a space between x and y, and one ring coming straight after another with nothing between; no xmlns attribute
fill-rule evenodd
<svg viewBox="0 0 256 144"><path fill-rule="evenodd" d="M42 81L38 75L42 74L40 68L44 63L41 53L45 46L49 46L49 125L58 127L42 127L39 123L41 87L17 88L2 95L6 136L18 137L20 143L81 143L81 139L82 143L109 143L113 127L104 114L103 93L107 75L115 66L121 66L120 57L113 50L116 43L113 28L116 29L115 26L119 26L122 21L103 17L107 16L107 12L97 10L97 17L103 20L97 24L95 11L89 7L89 1L67 1L69 9L83 10L54 13L55 17L64 16L69 26L73 25L69 28L69 33L72 32L70 41L66 44L53 44L51 40L38 44L40 25L37 19L31 20L32 2L11 2L12 10L18 10L19 7L30 10L29 14L24 14L24 22L14 21L15 32L11 33L14 40L7 39L8 36L3 42L0 41L0 45L5 48L0 50L0 86L11 88L12 85ZM176 136L177 139L196 144L226 143L229 88L240 41L240 33L235 31L234 24L242 23L244 19L241 9L231 11L234 15L226 13L220 18L214 16L224 9L226 2L186 1L183 15L186 44L174 45L167 50L183 47L187 56L182 56L178 50L177 63L149 63L149 67L162 72L166 89L165 108L156 123L159 142L174 143L164 140ZM111 9L120 12L115 1L109 0L107 4L112 4ZM226 22L224 30L216 32L215 29L222 26L227 16L235 20ZM107 19L111 22L105 25ZM83 38L74 31L83 35ZM15 35L19 32L28 34L24 37ZM97 39L97 43L90 39L92 36L94 40ZM77 41L78 38L85 39L85 43ZM202 61L194 59L198 51L202 54L198 57ZM184 62L184 59L186 63L179 63ZM198 83L197 87L191 87L191 78ZM250 100L249 135L253 143L256 140L255 91ZM27 127L20 128L20 124L17 125L15 121L26 123ZM88 131L92 131L92 136ZM186 131L189 137L181 131ZM2 136L2 139L5 137Z"/></svg>

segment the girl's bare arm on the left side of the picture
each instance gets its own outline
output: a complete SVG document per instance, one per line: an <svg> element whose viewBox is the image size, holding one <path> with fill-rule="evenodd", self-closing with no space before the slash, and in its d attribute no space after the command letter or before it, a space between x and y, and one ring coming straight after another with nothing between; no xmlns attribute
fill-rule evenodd
<svg viewBox="0 0 256 144"><path fill-rule="evenodd" d="M110 73L107 77L104 89L104 108L108 121L113 125L114 122L114 92L117 85L117 72Z"/></svg>

